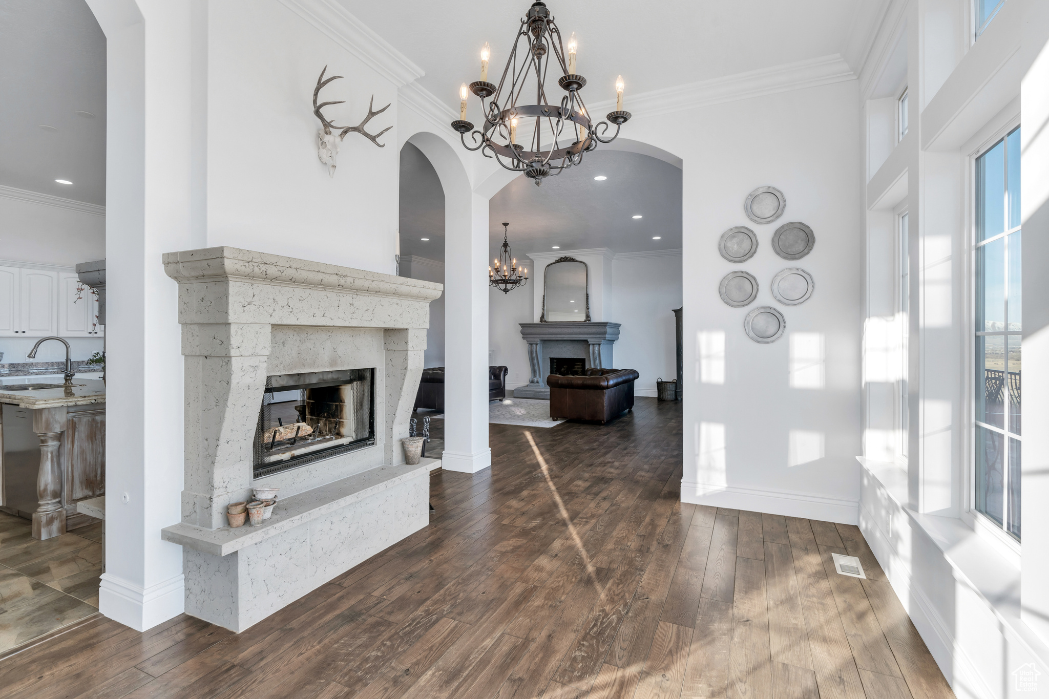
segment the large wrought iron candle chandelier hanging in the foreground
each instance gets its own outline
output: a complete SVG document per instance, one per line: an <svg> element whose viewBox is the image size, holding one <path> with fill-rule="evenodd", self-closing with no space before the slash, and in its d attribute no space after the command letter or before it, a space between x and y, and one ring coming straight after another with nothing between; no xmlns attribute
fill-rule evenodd
<svg viewBox="0 0 1049 699"><path fill-rule="evenodd" d="M554 16L541 0L533 2L521 19L498 86L488 82L490 49L486 43L480 52L480 80L469 87L470 92L480 97L485 124L480 130L472 131L473 124L466 121L468 95L464 83L459 88L459 118L452 122L463 146L471 151L479 150L485 157L494 157L507 170L523 172L538 185L544 178L582 162L583 153L596 149L599 141L615 140L620 127L630 118L630 113L623 111L623 79L620 77L616 81L616 111L606 116L616 125L616 132L607 136L608 122L593 124L579 94L586 79L576 73L577 46L573 32L569 50L564 50ZM520 57L519 49L523 49ZM557 84L568 92L561 96L559 107L548 104L544 86L552 60L554 74L560 74ZM524 84L533 74L536 104L519 104ZM486 104L488 97L492 100ZM527 97L523 101L527 102ZM518 126L523 127L520 129L522 134L528 134L527 144L517 143ZM466 143L467 133L472 144ZM543 139L549 144L547 150L542 150Z"/></svg>

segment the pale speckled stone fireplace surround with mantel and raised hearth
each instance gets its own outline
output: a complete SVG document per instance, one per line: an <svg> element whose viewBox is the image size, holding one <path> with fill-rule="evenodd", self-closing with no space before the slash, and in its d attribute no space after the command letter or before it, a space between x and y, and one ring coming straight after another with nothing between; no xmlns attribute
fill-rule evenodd
<svg viewBox="0 0 1049 699"><path fill-rule="evenodd" d="M426 526L426 463L400 439L441 284L232 247L164 256L178 282L186 359L183 546L186 612L243 631ZM376 444L253 481L267 375L374 367ZM261 527L226 506L279 487Z"/></svg>

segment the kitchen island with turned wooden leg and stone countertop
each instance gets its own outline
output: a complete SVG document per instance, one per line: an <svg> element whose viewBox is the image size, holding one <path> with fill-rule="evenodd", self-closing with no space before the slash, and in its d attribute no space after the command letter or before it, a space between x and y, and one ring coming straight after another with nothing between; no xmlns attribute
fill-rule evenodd
<svg viewBox="0 0 1049 699"><path fill-rule="evenodd" d="M81 500L105 494L106 385L0 385L0 509L50 539L93 520Z"/></svg>

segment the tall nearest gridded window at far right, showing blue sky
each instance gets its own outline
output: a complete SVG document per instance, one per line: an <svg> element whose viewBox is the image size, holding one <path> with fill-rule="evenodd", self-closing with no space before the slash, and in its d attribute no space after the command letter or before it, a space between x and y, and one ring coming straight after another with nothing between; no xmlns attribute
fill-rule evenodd
<svg viewBox="0 0 1049 699"><path fill-rule="evenodd" d="M977 158L975 508L1020 539L1020 128Z"/></svg>

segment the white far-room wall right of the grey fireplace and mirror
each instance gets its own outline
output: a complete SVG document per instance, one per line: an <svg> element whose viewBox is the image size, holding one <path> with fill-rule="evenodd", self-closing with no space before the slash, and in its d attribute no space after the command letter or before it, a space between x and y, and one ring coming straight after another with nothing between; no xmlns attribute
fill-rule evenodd
<svg viewBox="0 0 1049 699"><path fill-rule="evenodd" d="M656 379L678 376L675 308L681 308L681 250L617 255L607 284L607 320L621 323L613 350L617 369L641 374L635 395L657 394Z"/></svg>

